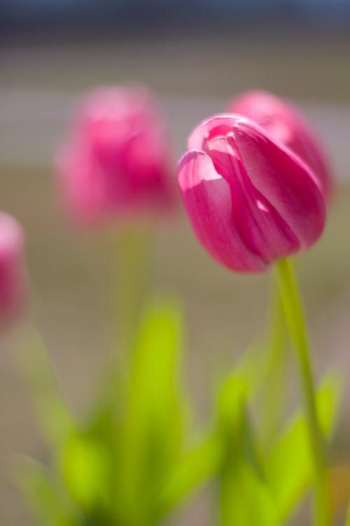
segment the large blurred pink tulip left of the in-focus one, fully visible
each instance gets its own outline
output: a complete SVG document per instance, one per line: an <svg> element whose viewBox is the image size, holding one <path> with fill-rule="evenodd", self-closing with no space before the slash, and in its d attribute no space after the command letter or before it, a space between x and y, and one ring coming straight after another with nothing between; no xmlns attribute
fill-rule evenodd
<svg viewBox="0 0 350 526"><path fill-rule="evenodd" d="M80 222L169 210L169 137L153 95L136 86L87 94L57 156L57 172L67 208Z"/></svg>

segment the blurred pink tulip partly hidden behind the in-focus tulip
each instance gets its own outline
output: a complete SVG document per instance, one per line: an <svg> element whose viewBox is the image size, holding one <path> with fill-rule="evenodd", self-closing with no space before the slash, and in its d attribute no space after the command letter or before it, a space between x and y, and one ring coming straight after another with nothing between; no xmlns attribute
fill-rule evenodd
<svg viewBox="0 0 350 526"><path fill-rule="evenodd" d="M321 142L304 116L290 102L263 91L242 93L228 105L228 112L248 117L307 163L321 181L325 196L332 177Z"/></svg>

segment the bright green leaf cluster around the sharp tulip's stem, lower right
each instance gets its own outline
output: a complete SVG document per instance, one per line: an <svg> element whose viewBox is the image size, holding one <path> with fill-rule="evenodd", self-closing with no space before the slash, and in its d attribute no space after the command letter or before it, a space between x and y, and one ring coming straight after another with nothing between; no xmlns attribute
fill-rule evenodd
<svg viewBox="0 0 350 526"><path fill-rule="evenodd" d="M252 363L253 370L248 364ZM268 447L259 440L248 414L255 365L239 363L221 389L218 422L223 457L220 523L223 526L280 525L295 513L312 480L307 422L300 410ZM316 393L318 418L326 438L335 425L339 378L328 375ZM250 503L254 502L254 506Z"/></svg>

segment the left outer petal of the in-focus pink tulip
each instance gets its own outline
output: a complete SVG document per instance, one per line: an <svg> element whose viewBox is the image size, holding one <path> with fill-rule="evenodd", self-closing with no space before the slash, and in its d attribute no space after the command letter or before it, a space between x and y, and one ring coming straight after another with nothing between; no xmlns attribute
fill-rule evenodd
<svg viewBox="0 0 350 526"><path fill-rule="evenodd" d="M226 267L257 272L265 262L244 243L232 214L230 185L203 151L188 151L178 167L179 186L195 234Z"/></svg>

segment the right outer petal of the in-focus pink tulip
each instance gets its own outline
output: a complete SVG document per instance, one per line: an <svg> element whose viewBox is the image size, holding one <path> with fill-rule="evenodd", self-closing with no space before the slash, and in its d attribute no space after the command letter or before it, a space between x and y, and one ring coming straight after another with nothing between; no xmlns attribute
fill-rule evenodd
<svg viewBox="0 0 350 526"><path fill-rule="evenodd" d="M314 243L323 231L325 200L311 170L253 123L235 126L234 139L255 189L288 224L301 248Z"/></svg>

